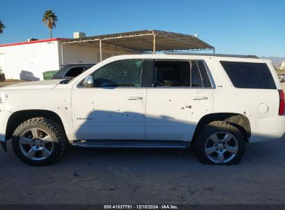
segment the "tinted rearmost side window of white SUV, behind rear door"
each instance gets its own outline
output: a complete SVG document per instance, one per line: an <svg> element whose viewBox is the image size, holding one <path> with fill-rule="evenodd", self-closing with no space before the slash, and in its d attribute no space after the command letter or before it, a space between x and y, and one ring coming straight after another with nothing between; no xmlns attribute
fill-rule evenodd
<svg viewBox="0 0 285 210"><path fill-rule="evenodd" d="M221 61L236 88L276 89L268 66L264 63Z"/></svg>

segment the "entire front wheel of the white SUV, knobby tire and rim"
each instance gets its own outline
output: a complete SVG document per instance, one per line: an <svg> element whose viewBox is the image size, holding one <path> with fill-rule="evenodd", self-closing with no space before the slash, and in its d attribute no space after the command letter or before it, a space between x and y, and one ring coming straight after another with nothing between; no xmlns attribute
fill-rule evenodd
<svg viewBox="0 0 285 210"><path fill-rule="evenodd" d="M20 124L12 137L12 148L26 164L51 164L64 152L67 139L61 126L46 117L35 117Z"/></svg>

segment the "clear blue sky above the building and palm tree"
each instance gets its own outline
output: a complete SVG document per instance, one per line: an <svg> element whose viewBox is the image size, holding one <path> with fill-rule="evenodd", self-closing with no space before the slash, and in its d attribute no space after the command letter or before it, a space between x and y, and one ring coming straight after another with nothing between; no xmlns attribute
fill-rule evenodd
<svg viewBox="0 0 285 210"><path fill-rule="evenodd" d="M285 57L284 0L1 0L0 44L48 39L49 8L58 16L53 37L156 29L198 34L216 53Z"/></svg>

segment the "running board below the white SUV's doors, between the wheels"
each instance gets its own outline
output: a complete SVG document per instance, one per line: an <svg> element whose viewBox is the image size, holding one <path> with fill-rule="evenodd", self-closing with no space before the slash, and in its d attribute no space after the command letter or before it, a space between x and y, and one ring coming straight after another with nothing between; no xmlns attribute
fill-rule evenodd
<svg viewBox="0 0 285 210"><path fill-rule="evenodd" d="M190 142L157 140L76 140L71 145L83 148L185 149L190 146Z"/></svg>

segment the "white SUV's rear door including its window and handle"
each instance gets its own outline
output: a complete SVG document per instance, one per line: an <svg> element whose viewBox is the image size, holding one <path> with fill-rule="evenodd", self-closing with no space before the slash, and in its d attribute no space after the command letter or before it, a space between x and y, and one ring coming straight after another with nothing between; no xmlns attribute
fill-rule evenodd
<svg viewBox="0 0 285 210"><path fill-rule="evenodd" d="M155 60L146 98L147 140L191 140L201 117L212 113L212 84L205 62Z"/></svg>

